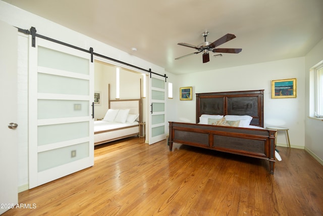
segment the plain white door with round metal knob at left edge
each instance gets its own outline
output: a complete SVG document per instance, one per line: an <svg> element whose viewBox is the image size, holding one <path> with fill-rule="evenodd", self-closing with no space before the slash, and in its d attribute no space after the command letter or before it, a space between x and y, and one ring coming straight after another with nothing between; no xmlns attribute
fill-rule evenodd
<svg viewBox="0 0 323 216"><path fill-rule="evenodd" d="M0 21L0 214L18 203L17 28ZM9 127L8 127L9 126Z"/></svg>

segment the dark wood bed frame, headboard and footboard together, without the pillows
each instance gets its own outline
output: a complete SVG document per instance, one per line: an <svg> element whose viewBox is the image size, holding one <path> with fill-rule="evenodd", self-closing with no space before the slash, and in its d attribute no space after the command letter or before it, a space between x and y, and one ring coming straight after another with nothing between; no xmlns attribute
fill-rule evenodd
<svg viewBox="0 0 323 216"><path fill-rule="evenodd" d="M250 115L250 125L263 127L263 90L196 94L196 124L170 121L168 144L265 159L274 174L276 130L198 124L202 114Z"/></svg>

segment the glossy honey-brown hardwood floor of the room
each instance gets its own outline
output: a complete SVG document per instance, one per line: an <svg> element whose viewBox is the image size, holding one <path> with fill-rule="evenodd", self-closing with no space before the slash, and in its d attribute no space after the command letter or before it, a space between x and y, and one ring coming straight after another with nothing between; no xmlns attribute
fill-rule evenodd
<svg viewBox="0 0 323 216"><path fill-rule="evenodd" d="M143 138L103 144L93 167L19 193L5 215L323 215L323 166L278 147L268 161ZM33 208L33 204L35 205Z"/></svg>

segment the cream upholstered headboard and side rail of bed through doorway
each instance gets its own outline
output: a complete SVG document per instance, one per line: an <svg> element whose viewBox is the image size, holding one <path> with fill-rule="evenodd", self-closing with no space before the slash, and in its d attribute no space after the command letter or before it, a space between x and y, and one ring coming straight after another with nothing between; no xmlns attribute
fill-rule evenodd
<svg viewBox="0 0 323 216"><path fill-rule="evenodd" d="M141 122L141 99L109 100L111 109L130 109L129 114L139 114ZM118 129L94 132L94 145L120 140L127 137L139 136L140 125L126 126Z"/></svg>

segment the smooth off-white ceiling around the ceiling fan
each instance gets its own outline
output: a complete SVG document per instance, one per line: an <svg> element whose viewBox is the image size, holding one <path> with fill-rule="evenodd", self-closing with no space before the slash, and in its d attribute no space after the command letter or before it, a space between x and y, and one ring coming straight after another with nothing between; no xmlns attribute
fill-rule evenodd
<svg viewBox="0 0 323 216"><path fill-rule="evenodd" d="M174 74L303 57L323 38L322 0L3 0L164 67ZM37 26L35 26L37 28ZM237 37L218 48L239 54L213 57L177 45L227 33ZM134 52L131 48L137 48Z"/></svg>

